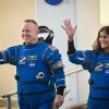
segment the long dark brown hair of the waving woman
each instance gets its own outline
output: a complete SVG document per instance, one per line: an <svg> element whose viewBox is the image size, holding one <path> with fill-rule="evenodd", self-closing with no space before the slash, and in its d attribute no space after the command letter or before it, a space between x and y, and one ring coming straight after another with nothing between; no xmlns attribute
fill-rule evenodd
<svg viewBox="0 0 109 109"><path fill-rule="evenodd" d="M104 26L104 27L101 27L101 28L99 29L98 36L97 36L96 40L95 40L94 44L93 44L93 49L94 49L94 51L96 51L96 52L104 51L104 50L101 49L101 46L100 46L100 43L99 43L99 35L100 35L100 32L105 32L107 35L109 35L109 26Z"/></svg>

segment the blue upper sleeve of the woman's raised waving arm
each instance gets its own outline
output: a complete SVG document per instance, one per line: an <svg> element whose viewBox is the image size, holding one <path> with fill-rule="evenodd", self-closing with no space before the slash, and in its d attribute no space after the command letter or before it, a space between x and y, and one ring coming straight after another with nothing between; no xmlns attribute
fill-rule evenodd
<svg viewBox="0 0 109 109"><path fill-rule="evenodd" d="M90 70L95 63L96 53L92 50L77 50L73 55L69 55L69 60L75 64L82 64L83 69Z"/></svg>

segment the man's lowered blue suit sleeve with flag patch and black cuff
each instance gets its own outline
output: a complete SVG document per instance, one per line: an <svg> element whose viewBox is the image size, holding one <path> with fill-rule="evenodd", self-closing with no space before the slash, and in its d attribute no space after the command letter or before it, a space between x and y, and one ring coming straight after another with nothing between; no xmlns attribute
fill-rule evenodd
<svg viewBox="0 0 109 109"><path fill-rule="evenodd" d="M44 61L53 73L52 77L57 86L57 94L63 95L65 88L64 64L59 50L53 46L49 46L44 53Z"/></svg>

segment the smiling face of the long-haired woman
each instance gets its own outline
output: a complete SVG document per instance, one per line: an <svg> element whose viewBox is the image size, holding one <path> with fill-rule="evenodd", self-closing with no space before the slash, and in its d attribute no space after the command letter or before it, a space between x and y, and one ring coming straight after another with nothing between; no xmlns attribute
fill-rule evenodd
<svg viewBox="0 0 109 109"><path fill-rule="evenodd" d="M107 35L105 31L99 34L99 43L104 50L109 50L109 35Z"/></svg>

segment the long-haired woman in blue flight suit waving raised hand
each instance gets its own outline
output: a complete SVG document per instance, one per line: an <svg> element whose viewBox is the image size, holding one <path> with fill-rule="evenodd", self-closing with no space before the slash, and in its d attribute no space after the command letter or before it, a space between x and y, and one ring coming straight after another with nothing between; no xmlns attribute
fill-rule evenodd
<svg viewBox="0 0 109 109"><path fill-rule="evenodd" d="M68 57L72 63L88 70L89 96L87 109L109 109L109 26L99 29L93 50L76 50L74 33L76 26L70 20L63 21L62 28L68 35Z"/></svg>

